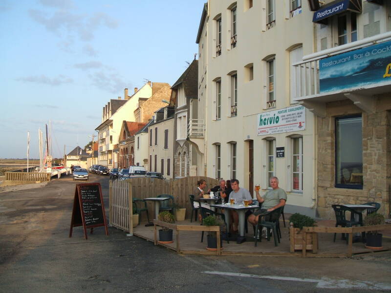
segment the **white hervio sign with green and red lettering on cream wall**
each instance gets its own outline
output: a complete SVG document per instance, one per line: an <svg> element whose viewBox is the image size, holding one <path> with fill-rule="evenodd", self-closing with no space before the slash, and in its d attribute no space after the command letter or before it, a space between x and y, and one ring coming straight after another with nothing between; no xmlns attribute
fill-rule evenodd
<svg viewBox="0 0 391 293"><path fill-rule="evenodd" d="M305 130L305 108L297 105L258 114L258 135Z"/></svg>

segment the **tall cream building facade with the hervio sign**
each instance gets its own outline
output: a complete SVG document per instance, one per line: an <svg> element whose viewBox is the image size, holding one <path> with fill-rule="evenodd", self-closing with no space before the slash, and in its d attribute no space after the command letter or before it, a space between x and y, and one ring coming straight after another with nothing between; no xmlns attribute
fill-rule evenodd
<svg viewBox="0 0 391 293"><path fill-rule="evenodd" d="M285 211L314 216L314 115L292 80L292 64L314 52L312 14L307 1L210 0L196 42L206 175L239 179L251 193L277 176Z"/></svg>

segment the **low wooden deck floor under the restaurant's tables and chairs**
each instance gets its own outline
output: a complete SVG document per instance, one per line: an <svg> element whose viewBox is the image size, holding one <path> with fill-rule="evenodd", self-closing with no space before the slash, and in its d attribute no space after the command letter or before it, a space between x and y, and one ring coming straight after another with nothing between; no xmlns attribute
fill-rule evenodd
<svg viewBox="0 0 391 293"><path fill-rule="evenodd" d="M144 238L148 241L154 242L154 227L145 227L145 222L133 229L133 234L135 236ZM198 222L190 223L189 219L185 221L176 222L176 225L195 225L199 226ZM223 249L221 251L222 255L236 254L236 255L269 255L269 256L302 256L302 251L295 251L293 253L289 252L289 228L288 223L286 223L286 228L283 227L283 223L280 222L281 227L281 243L278 247L274 246L273 237L270 241L262 239L261 242L258 242L258 246L254 246L254 242L244 242L242 244L237 244L236 241L230 241L229 244L227 241L223 240ZM190 228L190 227L189 227ZM159 229L159 227L157 227ZM177 251L182 254L213 254L216 255L215 251L207 251L207 239L205 232L204 241L201 242L201 231L186 231L180 230L179 233L179 242L180 246L177 250L177 243L175 239L174 231L174 243L171 244L158 244L163 245L169 249ZM249 227L249 233L246 234L247 237L253 238L253 229ZM157 236L158 237L158 236ZM333 242L333 233L318 233L319 237L319 249L317 253L312 253L312 251L306 251L308 257L346 257L348 256L348 245L345 240L341 240L341 234L337 234L336 242ZM158 240L158 239L157 239ZM383 250L391 249L391 238L383 237ZM373 252L372 250L366 249L364 243L357 242L352 244L352 254L360 254L366 252Z"/></svg>

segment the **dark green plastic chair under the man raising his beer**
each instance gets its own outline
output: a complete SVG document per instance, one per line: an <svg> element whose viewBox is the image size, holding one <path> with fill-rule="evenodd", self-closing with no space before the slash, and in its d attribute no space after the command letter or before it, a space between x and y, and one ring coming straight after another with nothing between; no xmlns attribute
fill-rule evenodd
<svg viewBox="0 0 391 293"><path fill-rule="evenodd" d="M267 229L267 241L270 241L270 230L273 231L274 246L278 246L280 243L280 216L281 216L282 207L266 211L262 213L258 218L258 224L255 226L255 243L254 246L257 246L258 238L259 241L262 241L262 237L259 237L260 229L265 227Z"/></svg>

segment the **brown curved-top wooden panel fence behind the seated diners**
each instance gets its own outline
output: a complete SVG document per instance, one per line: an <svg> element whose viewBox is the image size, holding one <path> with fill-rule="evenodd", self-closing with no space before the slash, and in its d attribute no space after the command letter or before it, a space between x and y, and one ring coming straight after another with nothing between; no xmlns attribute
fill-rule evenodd
<svg viewBox="0 0 391 293"><path fill-rule="evenodd" d="M129 188L129 186L131 186L132 198L144 199L147 197L156 197L159 194L171 194L174 196L174 202L176 206L179 206L181 208L186 208L186 217L188 218L190 217L191 214L189 194L193 194L194 189L197 187L197 181L200 179L204 179L206 181L207 189L213 188L218 185L217 179L209 178L209 177L201 177L201 176L185 177L185 178L175 179L170 181L146 178L146 177L144 178L135 177L124 181L119 181L119 180L112 181L112 185L110 185L110 193L128 194L127 192L129 192L129 189L126 188ZM130 185L125 184L125 182L130 183ZM118 189L118 190L114 190L114 189ZM125 203L125 201L123 201L122 203ZM126 203L129 205L129 201ZM150 220L152 220L154 215L154 204L148 201L147 205L148 205L148 213L150 216ZM110 210L111 210L111 206L112 205L110 202ZM112 216L116 217L117 216L116 213L122 212L122 209L129 209L129 206L121 209L117 207L115 211L113 210ZM139 217L141 217L141 221L147 221L147 215L145 212L139 215ZM110 222L111 222L111 214L110 214ZM123 229L123 228L120 229L130 231L128 229Z"/></svg>

